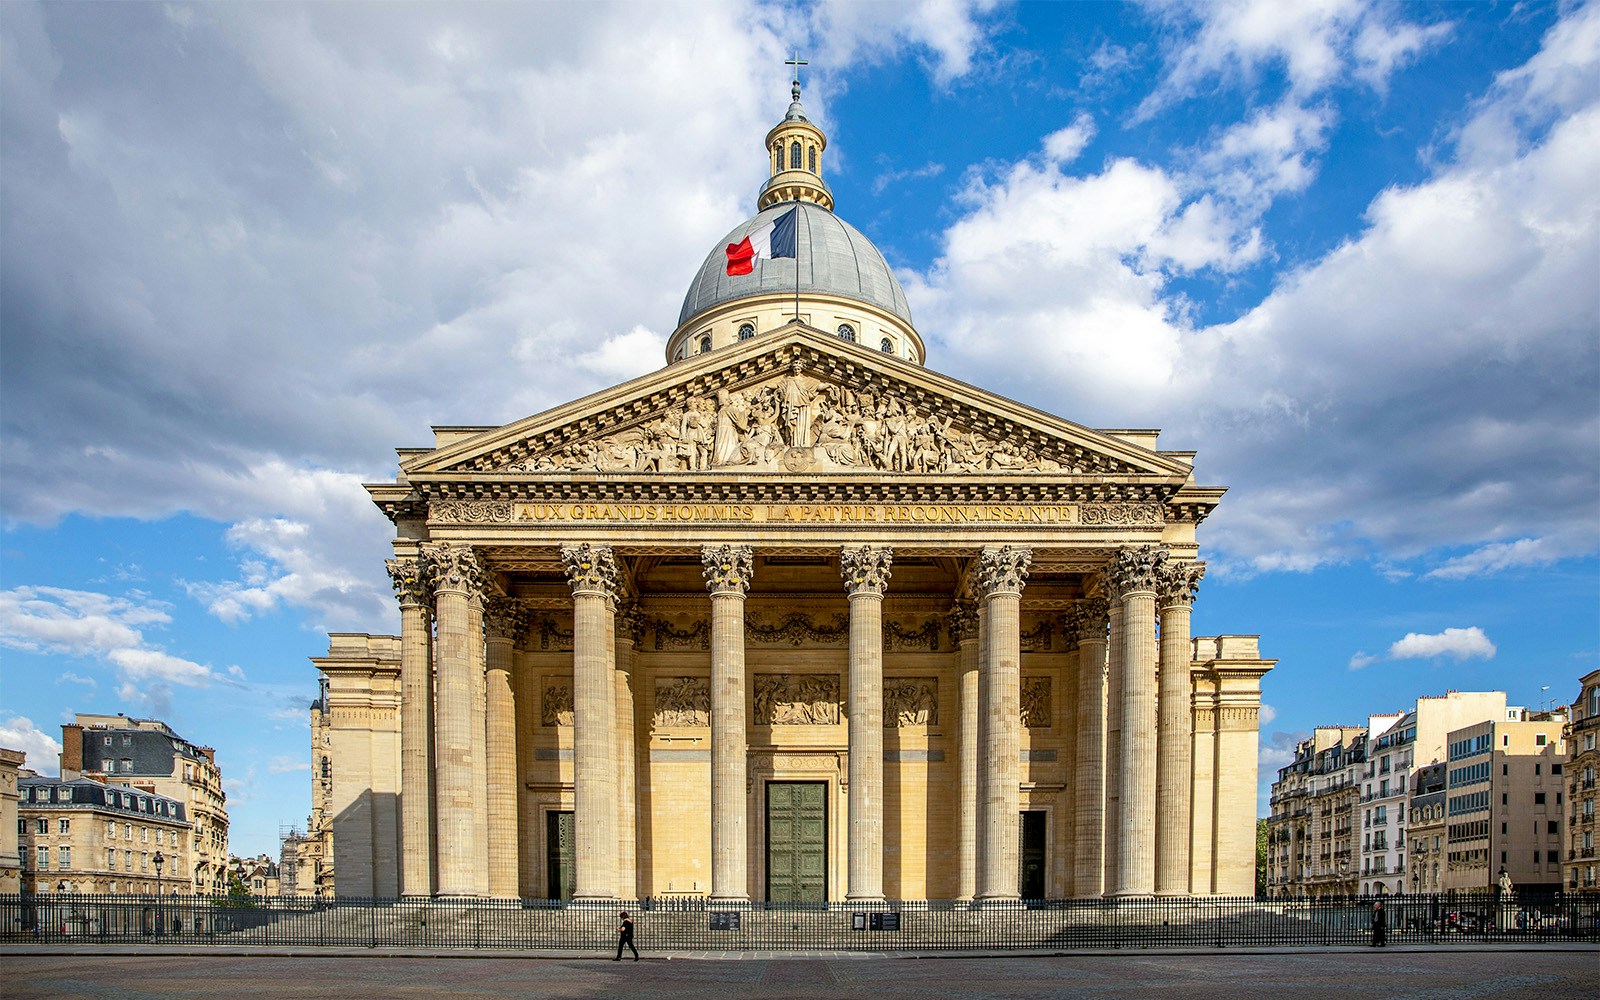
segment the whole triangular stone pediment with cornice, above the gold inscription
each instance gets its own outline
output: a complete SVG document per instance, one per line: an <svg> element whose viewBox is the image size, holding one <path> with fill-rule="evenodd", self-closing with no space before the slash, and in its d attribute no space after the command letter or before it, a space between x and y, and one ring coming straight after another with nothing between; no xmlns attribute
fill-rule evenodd
<svg viewBox="0 0 1600 1000"><path fill-rule="evenodd" d="M413 483L462 475L1061 477L1170 490L1189 477L1181 458L802 323L413 454L402 470Z"/></svg>

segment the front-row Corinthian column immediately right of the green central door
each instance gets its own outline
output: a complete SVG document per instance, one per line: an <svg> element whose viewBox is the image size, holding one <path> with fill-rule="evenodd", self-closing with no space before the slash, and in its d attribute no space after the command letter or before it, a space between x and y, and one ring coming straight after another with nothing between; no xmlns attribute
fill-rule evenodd
<svg viewBox="0 0 1600 1000"><path fill-rule="evenodd" d="M883 899L883 589L893 550L842 549L850 594L850 878L846 899Z"/></svg>

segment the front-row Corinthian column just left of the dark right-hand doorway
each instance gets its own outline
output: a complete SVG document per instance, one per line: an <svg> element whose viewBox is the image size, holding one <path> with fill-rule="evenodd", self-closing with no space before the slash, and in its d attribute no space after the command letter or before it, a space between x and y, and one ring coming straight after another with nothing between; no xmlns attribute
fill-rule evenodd
<svg viewBox="0 0 1600 1000"><path fill-rule="evenodd" d="M978 899L1010 901L1018 886L1018 838L1021 816L1021 685L1022 685L1022 586L1034 554L1011 546L989 547L978 558L986 637L979 686L984 698L982 770L984 798L978 824L982 829L982 866Z"/></svg>

